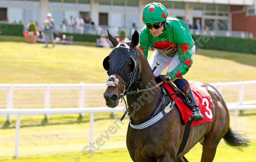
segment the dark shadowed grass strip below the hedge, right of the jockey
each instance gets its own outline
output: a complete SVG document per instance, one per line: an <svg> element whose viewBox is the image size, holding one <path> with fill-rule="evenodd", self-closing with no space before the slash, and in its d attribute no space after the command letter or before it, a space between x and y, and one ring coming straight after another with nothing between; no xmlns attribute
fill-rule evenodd
<svg viewBox="0 0 256 162"><path fill-rule="evenodd" d="M218 58L218 59L228 59L241 64L256 67L256 64L255 64L256 54L222 51L222 50L209 50L209 49L201 49L201 50L202 51L198 55L207 56L211 58Z"/></svg>

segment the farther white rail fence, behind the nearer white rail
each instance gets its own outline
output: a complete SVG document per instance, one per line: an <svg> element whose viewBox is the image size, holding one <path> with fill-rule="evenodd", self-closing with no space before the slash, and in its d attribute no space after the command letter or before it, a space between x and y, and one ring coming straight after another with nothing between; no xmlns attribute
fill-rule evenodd
<svg viewBox="0 0 256 162"><path fill-rule="evenodd" d="M222 94L224 88L229 88L229 87L235 87L233 89L237 89L238 93L238 102L233 102L233 103L228 103L227 105L247 105L247 104L255 104L256 103L256 94L254 93L254 96L252 99L249 101L244 100L245 96L245 87L248 86L254 86L256 90L256 80L252 81L240 81L240 82L229 82L229 83L212 83L212 86L214 86L218 91ZM4 95L0 95L0 103L5 103L6 102L6 108L7 109L12 109L12 108L18 108L16 106L13 106L14 103L14 96L15 93L19 90L24 90L24 91L30 91L30 90L43 90L43 105L41 106L44 109L50 109L51 106L51 91L53 90L76 90L78 92L78 105L77 107L92 107L92 106L85 106L86 103L86 96L85 93L89 90L87 93L92 93L93 91L91 90L105 90L106 86L105 84L85 84L85 83L79 83L79 84L0 84L0 92L2 91L3 93L6 93L6 99ZM102 91L104 92L104 91ZM255 92L255 91L254 91ZM31 92L33 93L33 92ZM232 92L233 93L233 92ZM59 94L61 95L61 94ZM90 94L89 94L90 95ZM222 95L223 96L223 95ZM28 97L29 98L29 97ZM101 98L102 101L103 99L103 93L101 93ZM223 97L225 100L225 97ZM5 100L5 101L4 101ZM30 101L30 99L27 99ZM64 99L68 100L68 99ZM96 100L99 102L98 100ZM225 100L226 101L226 100ZM23 101L24 102L24 101ZM76 102L76 101L75 101ZM102 104L101 104L102 105ZM103 105L102 105L103 106ZM104 104L105 106L105 104ZM34 107L33 105L29 105L29 108L37 108ZM56 106L55 106L56 107ZM64 107L64 106L57 106L57 107ZM68 106L71 107L71 106ZM72 107L76 107L72 106ZM99 107L99 105L96 105L95 107ZM1 108L1 106L0 106ZM5 108L5 106L3 107ZM83 117L84 113L80 113L80 115ZM2 116L2 114L0 114ZM46 119L50 119L50 114L46 113L45 114ZM11 123L12 122L12 115L7 116L7 120Z"/></svg>

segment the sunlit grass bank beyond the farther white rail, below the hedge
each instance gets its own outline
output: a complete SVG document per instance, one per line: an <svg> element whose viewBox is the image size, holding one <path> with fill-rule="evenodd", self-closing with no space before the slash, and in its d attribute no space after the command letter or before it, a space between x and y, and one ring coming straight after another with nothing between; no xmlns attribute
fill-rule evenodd
<svg viewBox="0 0 256 162"><path fill-rule="evenodd" d="M0 83L105 83L102 61L112 50L25 42L1 42L0 48ZM253 54L201 50L184 77L206 83L255 80L254 60Z"/></svg>

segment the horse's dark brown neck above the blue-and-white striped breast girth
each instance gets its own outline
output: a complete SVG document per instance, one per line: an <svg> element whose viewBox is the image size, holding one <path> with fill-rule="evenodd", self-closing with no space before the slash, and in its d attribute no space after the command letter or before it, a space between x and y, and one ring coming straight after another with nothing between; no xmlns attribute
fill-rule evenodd
<svg viewBox="0 0 256 162"><path fill-rule="evenodd" d="M142 81L137 83L138 89L146 89L155 86L155 78L145 57L140 58L140 77ZM134 123L143 123L147 121L155 112L162 94L161 89L155 88L152 90L137 93L136 95L127 95L127 103L129 106L129 113Z"/></svg>

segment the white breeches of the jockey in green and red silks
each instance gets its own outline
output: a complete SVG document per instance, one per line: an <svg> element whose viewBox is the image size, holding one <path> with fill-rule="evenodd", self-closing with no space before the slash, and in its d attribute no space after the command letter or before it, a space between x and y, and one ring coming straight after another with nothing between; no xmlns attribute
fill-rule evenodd
<svg viewBox="0 0 256 162"><path fill-rule="evenodd" d="M192 54L192 58L195 53L195 46L192 47L190 53ZM159 62L160 65L154 71L155 76L160 75L163 71L166 71L167 69L168 72L171 72L173 69L180 65L178 52L173 57L169 57L165 53L154 51L148 62L151 69L155 67L156 62ZM166 72L164 72L163 74L166 74Z"/></svg>

